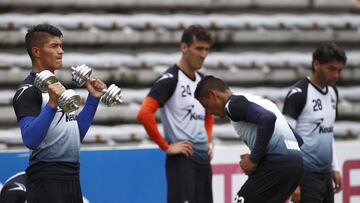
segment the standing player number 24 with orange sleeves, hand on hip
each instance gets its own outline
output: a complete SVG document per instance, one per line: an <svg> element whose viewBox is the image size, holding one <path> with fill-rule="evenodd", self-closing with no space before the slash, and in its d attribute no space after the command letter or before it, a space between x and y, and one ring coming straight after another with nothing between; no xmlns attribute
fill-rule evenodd
<svg viewBox="0 0 360 203"><path fill-rule="evenodd" d="M182 35L180 61L153 84L138 112L148 135L166 152L166 177L169 203L211 203L211 134L214 118L194 98L196 85L212 43L211 34L192 25ZM155 112L160 118L165 139L160 134Z"/></svg>

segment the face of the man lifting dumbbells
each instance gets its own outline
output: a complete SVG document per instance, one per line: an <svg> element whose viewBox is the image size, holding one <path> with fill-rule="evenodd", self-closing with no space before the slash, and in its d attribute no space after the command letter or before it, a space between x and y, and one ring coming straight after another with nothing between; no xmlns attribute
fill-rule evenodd
<svg viewBox="0 0 360 203"><path fill-rule="evenodd" d="M50 36L42 46L38 47L38 60L43 68L55 71L62 67L64 51L59 37Z"/></svg>

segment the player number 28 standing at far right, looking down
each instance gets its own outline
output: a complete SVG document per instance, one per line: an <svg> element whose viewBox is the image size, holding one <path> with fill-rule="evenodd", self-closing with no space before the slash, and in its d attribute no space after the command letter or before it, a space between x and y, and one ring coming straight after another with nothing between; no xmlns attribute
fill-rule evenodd
<svg viewBox="0 0 360 203"><path fill-rule="evenodd" d="M304 140L305 172L292 195L294 202L334 202L334 191L342 188L334 124L339 98L335 84L345 64L341 48L334 43L322 44L313 52L310 76L295 83L286 96L283 114Z"/></svg>

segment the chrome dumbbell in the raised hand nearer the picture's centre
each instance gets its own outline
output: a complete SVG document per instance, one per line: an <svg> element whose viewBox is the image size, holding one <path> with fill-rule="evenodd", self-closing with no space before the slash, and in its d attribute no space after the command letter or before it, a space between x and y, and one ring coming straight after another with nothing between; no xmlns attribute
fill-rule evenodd
<svg viewBox="0 0 360 203"><path fill-rule="evenodd" d="M76 67L71 67L72 69L72 81L78 86L83 86L87 80L90 79L92 69L87 65L83 64ZM102 90L104 93L101 96L100 100L102 103L112 106L114 104L122 104L123 100L121 99L121 88L115 84L110 85L109 88Z"/></svg>

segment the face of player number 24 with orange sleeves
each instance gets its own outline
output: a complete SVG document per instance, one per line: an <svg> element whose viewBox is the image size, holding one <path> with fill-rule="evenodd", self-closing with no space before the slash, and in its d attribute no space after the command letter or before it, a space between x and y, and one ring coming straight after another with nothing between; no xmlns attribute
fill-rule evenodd
<svg viewBox="0 0 360 203"><path fill-rule="evenodd" d="M210 43L205 41L199 41L195 37L191 45L182 43L181 49L183 56L189 66L194 70L198 70L202 67L210 50Z"/></svg>

